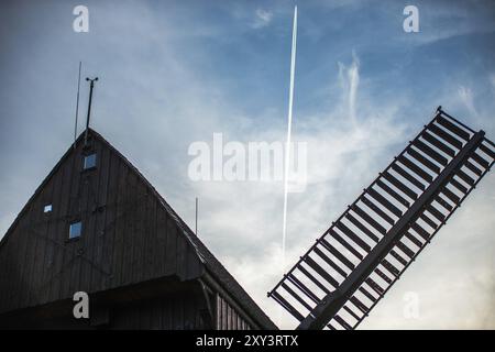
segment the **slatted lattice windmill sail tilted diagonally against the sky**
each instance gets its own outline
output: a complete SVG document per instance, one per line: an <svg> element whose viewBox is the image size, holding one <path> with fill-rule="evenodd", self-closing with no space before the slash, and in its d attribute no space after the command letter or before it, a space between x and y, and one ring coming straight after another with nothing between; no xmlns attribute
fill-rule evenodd
<svg viewBox="0 0 495 352"><path fill-rule="evenodd" d="M490 172L484 134L439 107L268 297L298 329L355 329Z"/></svg>

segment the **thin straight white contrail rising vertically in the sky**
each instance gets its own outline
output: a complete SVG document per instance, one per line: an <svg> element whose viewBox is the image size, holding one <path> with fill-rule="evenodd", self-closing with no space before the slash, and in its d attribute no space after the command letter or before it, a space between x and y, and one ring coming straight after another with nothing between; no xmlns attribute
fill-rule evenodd
<svg viewBox="0 0 495 352"><path fill-rule="evenodd" d="M285 240L287 234L287 193L288 193L288 172L290 161L290 132L293 128L293 102L294 102L294 74L296 69L296 38L297 38L297 6L294 8L294 28L293 28L293 48L290 53L290 88L289 107L287 121L287 141L285 147L285 173L284 173L284 224L282 228L282 257L285 266Z"/></svg>

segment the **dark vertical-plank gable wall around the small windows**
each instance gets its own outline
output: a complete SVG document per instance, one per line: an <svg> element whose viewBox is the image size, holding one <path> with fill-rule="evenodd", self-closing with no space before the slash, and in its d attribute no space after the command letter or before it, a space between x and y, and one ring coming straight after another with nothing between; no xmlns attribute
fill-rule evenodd
<svg viewBox="0 0 495 352"><path fill-rule="evenodd" d="M166 275L200 276L195 249L150 187L106 143L91 143L97 167L82 170L79 143L2 240L7 270L0 271L0 312L70 298L78 290L96 293ZM47 204L53 210L44 213ZM74 220L81 220L82 233L69 241Z"/></svg>

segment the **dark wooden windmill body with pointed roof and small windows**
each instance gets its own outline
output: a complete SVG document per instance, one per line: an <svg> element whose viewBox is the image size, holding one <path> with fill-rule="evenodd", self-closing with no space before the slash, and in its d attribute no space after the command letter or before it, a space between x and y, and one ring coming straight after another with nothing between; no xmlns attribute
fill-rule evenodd
<svg viewBox="0 0 495 352"><path fill-rule="evenodd" d="M125 157L82 140L0 242L0 327L276 329ZM89 319L73 316L76 292Z"/></svg>

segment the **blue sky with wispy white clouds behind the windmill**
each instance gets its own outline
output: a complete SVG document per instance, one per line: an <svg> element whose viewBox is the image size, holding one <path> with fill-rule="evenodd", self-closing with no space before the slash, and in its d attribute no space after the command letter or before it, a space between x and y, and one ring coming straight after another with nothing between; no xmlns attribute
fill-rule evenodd
<svg viewBox="0 0 495 352"><path fill-rule="evenodd" d="M73 31L78 4L89 9L89 33ZM275 320L293 327L265 297L280 274L274 261L279 258L282 186L190 182L187 148L195 141L210 142L213 132L241 142L285 139L295 4L2 1L0 235L73 140L82 61L82 78L100 77L92 128L189 224L199 196L204 241ZM304 194L289 196L288 262L371 183L437 106L495 136L493 2L297 4L293 132L296 141L308 142L309 180ZM419 33L403 30L407 4L419 10ZM82 84L82 119L86 103ZM495 328L494 186L488 175L363 327ZM473 216L476 224L466 228ZM416 320L403 317L403 296L411 290L424 307ZM455 315L453 305L460 307Z"/></svg>

